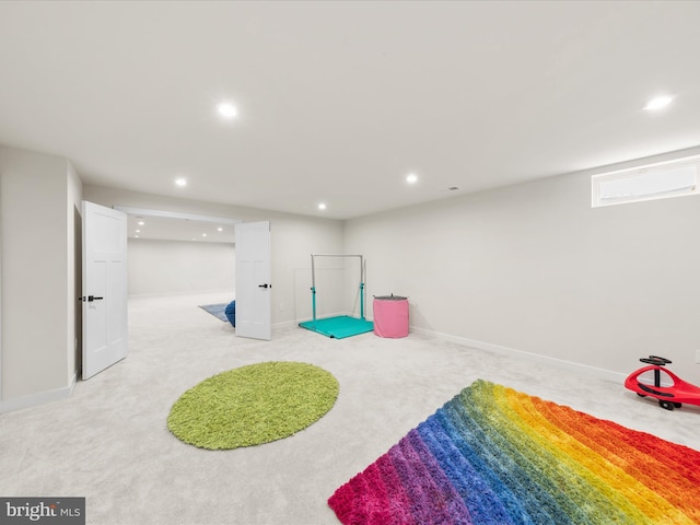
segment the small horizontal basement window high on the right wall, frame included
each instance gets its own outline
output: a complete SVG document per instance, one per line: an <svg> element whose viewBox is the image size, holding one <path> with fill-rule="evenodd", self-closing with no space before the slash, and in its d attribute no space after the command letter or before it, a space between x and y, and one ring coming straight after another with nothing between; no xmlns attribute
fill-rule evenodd
<svg viewBox="0 0 700 525"><path fill-rule="evenodd" d="M593 208L698 195L700 156L594 175Z"/></svg>

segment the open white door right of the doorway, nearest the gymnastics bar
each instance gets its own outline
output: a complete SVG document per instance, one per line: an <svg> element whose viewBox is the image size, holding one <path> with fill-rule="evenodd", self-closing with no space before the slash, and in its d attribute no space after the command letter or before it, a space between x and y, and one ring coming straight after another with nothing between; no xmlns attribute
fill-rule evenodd
<svg viewBox="0 0 700 525"><path fill-rule="evenodd" d="M236 336L272 338L270 223L236 224Z"/></svg>

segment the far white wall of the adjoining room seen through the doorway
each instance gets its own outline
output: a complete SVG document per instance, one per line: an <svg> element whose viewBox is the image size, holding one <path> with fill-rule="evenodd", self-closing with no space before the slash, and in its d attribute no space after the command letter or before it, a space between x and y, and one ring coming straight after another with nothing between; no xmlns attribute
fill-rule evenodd
<svg viewBox="0 0 700 525"><path fill-rule="evenodd" d="M234 299L233 244L129 238L129 296L229 290Z"/></svg>

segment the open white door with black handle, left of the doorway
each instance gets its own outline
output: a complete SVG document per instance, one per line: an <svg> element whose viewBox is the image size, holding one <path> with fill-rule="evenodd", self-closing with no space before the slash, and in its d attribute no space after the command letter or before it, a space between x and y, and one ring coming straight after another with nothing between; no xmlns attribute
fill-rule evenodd
<svg viewBox="0 0 700 525"><path fill-rule="evenodd" d="M83 372L127 357L127 215L83 201Z"/></svg>

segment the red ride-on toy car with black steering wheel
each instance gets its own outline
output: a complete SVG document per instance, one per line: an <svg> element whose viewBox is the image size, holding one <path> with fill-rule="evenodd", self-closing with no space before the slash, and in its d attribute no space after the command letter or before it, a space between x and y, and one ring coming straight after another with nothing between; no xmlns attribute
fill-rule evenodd
<svg viewBox="0 0 700 525"><path fill-rule="evenodd" d="M700 406L700 387L686 383L672 371L662 368L666 364L670 364L672 361L666 358L660 358L658 355L642 358L640 361L642 363L649 363L650 365L632 372L629 377L625 380L626 388L635 392L640 397L649 396L658 399L661 408L665 408L666 410L680 408L684 402ZM653 385L639 381L640 375L650 371L654 372ZM672 380L673 384L670 386L662 386L662 372Z"/></svg>

